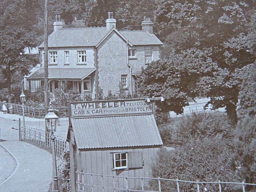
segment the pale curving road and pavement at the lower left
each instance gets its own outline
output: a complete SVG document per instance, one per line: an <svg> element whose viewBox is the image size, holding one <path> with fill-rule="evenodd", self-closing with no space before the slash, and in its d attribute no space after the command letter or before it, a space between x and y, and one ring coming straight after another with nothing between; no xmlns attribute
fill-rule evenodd
<svg viewBox="0 0 256 192"><path fill-rule="evenodd" d="M52 182L52 155L19 141L19 118L22 120L22 116L0 112L0 191L47 192ZM45 129L44 119L25 117L25 123ZM58 134L65 137L67 119L61 119L58 124Z"/></svg>

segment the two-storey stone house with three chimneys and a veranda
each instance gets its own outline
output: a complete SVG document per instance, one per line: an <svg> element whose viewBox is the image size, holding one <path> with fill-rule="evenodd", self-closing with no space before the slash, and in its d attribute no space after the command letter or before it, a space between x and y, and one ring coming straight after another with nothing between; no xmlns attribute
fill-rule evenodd
<svg viewBox="0 0 256 192"><path fill-rule="evenodd" d="M54 90L64 87L82 95L97 98L116 94L121 89L131 95L135 91L136 75L152 60L161 59L163 43L153 34L153 22L144 16L142 30L118 31L113 12L108 12L106 27L62 28L56 17L54 31L48 37L48 70L50 98ZM38 47L41 62L26 76L27 89L39 92L44 85L44 42Z"/></svg>

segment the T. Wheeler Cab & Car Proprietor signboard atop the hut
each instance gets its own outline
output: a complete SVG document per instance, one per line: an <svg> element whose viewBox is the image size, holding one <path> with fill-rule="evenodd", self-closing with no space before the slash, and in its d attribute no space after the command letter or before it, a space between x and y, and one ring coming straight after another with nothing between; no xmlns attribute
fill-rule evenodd
<svg viewBox="0 0 256 192"><path fill-rule="evenodd" d="M145 100L106 100L71 102L71 116L102 116L152 113Z"/></svg>

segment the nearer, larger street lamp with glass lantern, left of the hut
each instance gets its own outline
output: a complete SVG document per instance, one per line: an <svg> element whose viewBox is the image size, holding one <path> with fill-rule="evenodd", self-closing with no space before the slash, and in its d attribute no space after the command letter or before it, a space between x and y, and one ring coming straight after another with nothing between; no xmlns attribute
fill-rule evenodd
<svg viewBox="0 0 256 192"><path fill-rule="evenodd" d="M53 191L57 192L59 191L59 186L58 186L58 176L57 176L57 166L56 166L54 132L56 131L56 124L59 117L53 112L52 106L50 106L48 109L48 113L44 118L45 118L47 128L51 133Z"/></svg>

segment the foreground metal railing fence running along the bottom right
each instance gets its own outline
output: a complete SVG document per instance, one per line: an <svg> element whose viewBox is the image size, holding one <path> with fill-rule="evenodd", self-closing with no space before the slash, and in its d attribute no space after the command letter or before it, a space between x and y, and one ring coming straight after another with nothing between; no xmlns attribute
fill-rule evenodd
<svg viewBox="0 0 256 192"><path fill-rule="evenodd" d="M202 190L204 191L213 191L209 188L209 185L216 185L219 192L224 191L225 186L227 185L238 185L241 188L241 192L245 192L246 185L256 186L256 184L252 183L239 183L239 182L199 182L197 181L186 181L186 180L174 180L174 179L162 179L162 178L139 178L139 177L123 177L123 176L113 176L113 175L102 175L102 174L92 174L92 173L84 173L82 171L76 171L76 191L84 192L84 191L92 191L92 192L108 192L108 191L122 191L122 192L161 192L161 186L166 185L168 182L172 182L177 192L183 191L180 187L182 183L189 183L191 185L195 185L195 189L197 192ZM93 178L94 177L94 178ZM97 178L97 183L93 183L93 180ZM105 180L108 180L108 184L111 183L112 186L106 185L104 186ZM110 182L109 182L110 180ZM118 182L116 182L118 180ZM99 182L100 181L100 182ZM122 183L119 185L118 183ZM134 187L134 183L137 183ZM147 183L151 183L149 186ZM100 184L100 185L99 185ZM152 185L153 184L153 185ZM205 185L208 185L208 189L205 188ZM170 191L171 189L168 189ZM171 191L174 192L172 189ZM166 190L165 190L166 191ZM239 191L239 190L237 190Z"/></svg>

